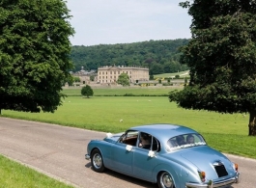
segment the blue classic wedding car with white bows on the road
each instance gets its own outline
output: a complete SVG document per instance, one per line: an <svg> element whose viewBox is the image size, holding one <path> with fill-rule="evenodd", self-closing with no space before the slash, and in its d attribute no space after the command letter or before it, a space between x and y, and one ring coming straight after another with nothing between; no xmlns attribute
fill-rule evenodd
<svg viewBox="0 0 256 188"><path fill-rule="evenodd" d="M207 146L196 131L175 124L149 124L92 140L85 158L92 169L157 183L159 188L228 187L240 181L238 165Z"/></svg>

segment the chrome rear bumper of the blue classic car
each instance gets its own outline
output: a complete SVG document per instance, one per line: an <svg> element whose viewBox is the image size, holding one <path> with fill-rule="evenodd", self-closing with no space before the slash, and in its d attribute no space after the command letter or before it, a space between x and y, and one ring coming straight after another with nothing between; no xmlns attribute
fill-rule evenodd
<svg viewBox="0 0 256 188"><path fill-rule="evenodd" d="M213 182L209 181L206 184L199 184L199 183L185 183L185 188L213 188L213 187L222 187L222 186L228 186L232 185L233 183L239 183L241 180L240 173L237 173L235 177L226 179L224 181L218 181L218 182Z"/></svg>

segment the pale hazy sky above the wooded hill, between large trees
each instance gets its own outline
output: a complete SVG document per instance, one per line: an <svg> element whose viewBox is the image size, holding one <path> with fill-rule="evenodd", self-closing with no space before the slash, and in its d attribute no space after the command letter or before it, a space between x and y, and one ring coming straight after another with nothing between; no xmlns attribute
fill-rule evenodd
<svg viewBox="0 0 256 188"><path fill-rule="evenodd" d="M191 38L191 17L179 6L183 0L66 1L75 31L72 45Z"/></svg>

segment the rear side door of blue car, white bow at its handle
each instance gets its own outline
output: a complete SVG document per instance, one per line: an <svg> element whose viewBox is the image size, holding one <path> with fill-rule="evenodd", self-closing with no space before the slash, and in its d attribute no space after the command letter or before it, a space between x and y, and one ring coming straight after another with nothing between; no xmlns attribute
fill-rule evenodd
<svg viewBox="0 0 256 188"><path fill-rule="evenodd" d="M157 158L156 156L149 156L149 151L159 151L159 142L155 137L151 139L151 148L140 148L136 147L133 153L133 175L145 180L152 179L152 172L156 167Z"/></svg>

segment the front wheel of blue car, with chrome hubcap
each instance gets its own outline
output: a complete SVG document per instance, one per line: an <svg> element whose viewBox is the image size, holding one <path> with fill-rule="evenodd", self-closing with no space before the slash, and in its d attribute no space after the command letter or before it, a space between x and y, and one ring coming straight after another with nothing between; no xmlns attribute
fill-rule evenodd
<svg viewBox="0 0 256 188"><path fill-rule="evenodd" d="M102 173L105 170L103 158L98 148L92 152L91 163L94 171Z"/></svg>

